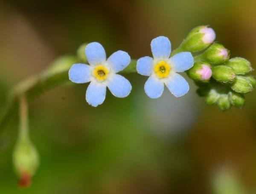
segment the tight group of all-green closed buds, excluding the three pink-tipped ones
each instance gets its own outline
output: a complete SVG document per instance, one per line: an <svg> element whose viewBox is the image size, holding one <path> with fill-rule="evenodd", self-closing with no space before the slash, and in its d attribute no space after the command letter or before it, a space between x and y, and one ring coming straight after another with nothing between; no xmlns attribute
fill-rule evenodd
<svg viewBox="0 0 256 194"><path fill-rule="evenodd" d="M223 111L227 111L232 105L243 107L244 94L256 86L255 78L248 74L253 70L250 62L236 57L213 65L211 70L212 77L209 82L201 84L198 89L198 93L206 97L206 103L217 104ZM203 82L204 80L201 81Z"/></svg>

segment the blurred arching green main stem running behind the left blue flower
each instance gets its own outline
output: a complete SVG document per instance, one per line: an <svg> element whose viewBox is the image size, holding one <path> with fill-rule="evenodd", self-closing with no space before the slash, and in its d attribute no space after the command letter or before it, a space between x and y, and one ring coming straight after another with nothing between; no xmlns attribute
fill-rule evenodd
<svg viewBox="0 0 256 194"><path fill-rule="evenodd" d="M70 57L62 57L55 61L46 71L14 86L9 92L7 102L4 104L0 114L0 130L3 129L4 124L15 110L21 94L26 95L28 100L32 100L51 88L67 83L69 81L68 71L77 62L76 57L73 57L72 60L70 60ZM136 60L131 60L130 65L120 73L136 72L136 62Z"/></svg>

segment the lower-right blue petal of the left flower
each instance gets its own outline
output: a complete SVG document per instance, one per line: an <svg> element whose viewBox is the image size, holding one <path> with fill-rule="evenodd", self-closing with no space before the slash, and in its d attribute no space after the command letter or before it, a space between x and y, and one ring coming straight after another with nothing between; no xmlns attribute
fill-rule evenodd
<svg viewBox="0 0 256 194"><path fill-rule="evenodd" d="M113 75L108 88L115 97L124 98L131 92L131 83L119 74Z"/></svg>

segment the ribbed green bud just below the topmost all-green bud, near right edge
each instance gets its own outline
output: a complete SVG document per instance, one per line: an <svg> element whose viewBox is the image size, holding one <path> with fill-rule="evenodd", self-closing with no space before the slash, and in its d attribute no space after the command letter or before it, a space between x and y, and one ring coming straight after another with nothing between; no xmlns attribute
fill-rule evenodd
<svg viewBox="0 0 256 194"><path fill-rule="evenodd" d="M247 77L244 76L236 76L235 81L232 83L231 88L233 91L236 91L238 93L248 93L253 90L253 86L250 83L250 80L247 79Z"/></svg>

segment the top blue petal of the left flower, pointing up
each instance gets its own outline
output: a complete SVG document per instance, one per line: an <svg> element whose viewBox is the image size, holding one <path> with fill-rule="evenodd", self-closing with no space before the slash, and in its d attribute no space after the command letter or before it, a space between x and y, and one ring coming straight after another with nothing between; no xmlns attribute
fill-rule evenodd
<svg viewBox="0 0 256 194"><path fill-rule="evenodd" d="M106 61L106 52L100 43L90 43L85 47L85 56L90 65L102 64Z"/></svg>

